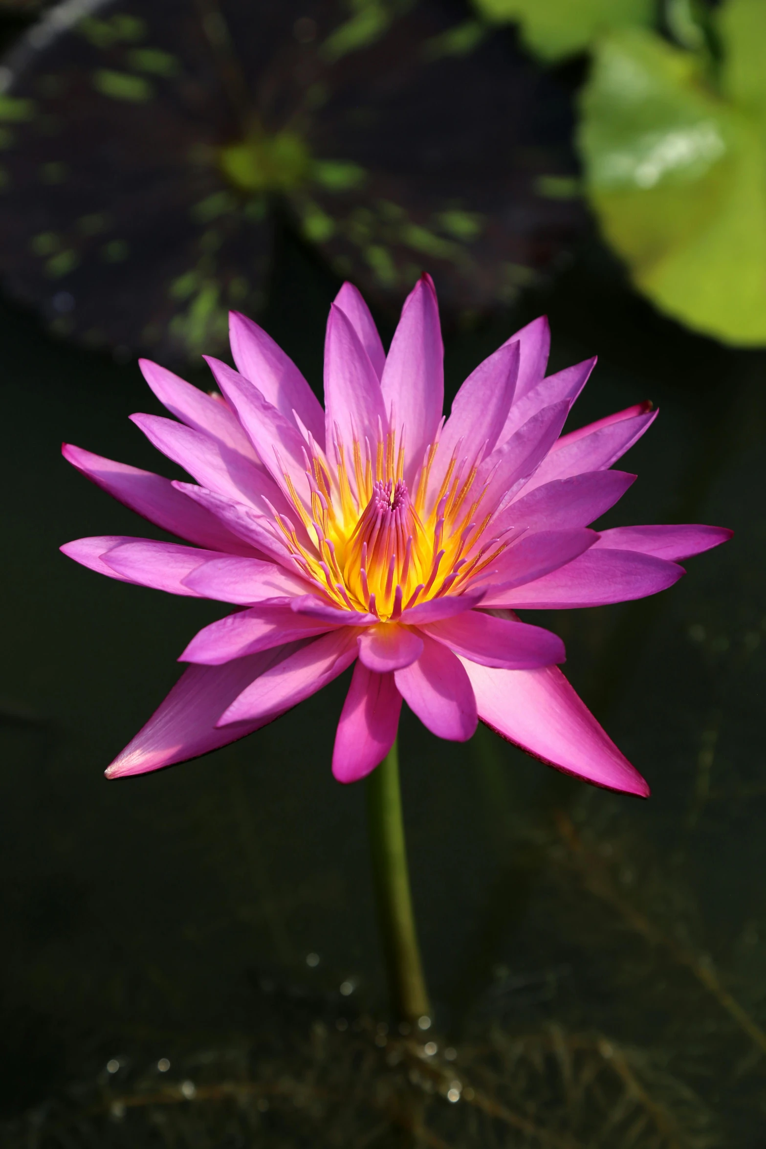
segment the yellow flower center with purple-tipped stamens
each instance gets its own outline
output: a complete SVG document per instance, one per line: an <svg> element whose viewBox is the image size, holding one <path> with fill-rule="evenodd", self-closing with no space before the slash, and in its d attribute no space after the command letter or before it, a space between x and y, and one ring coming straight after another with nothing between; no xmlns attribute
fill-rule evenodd
<svg viewBox="0 0 766 1149"><path fill-rule="evenodd" d="M311 509L285 475L300 525L283 515L276 524L301 573L335 606L395 622L416 602L459 593L504 549L498 539L485 539L492 516L477 514L483 485L475 483L475 462L452 457L432 489L436 446L427 447L411 498L394 432L376 444L365 439L364 448L354 441L351 465L341 444L334 445L335 466L314 440L308 446Z"/></svg>

